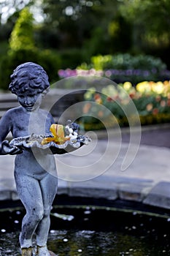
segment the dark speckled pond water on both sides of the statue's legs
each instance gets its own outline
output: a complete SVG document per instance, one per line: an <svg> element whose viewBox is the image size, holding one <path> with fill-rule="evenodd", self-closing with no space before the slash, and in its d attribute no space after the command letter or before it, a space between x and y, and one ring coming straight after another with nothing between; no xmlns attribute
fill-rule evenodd
<svg viewBox="0 0 170 256"><path fill-rule="evenodd" d="M58 218L55 211L61 216L66 214L73 218ZM0 212L3 218L0 225L0 256L20 255L18 236L23 214L22 211L20 214L17 211ZM85 218L87 215L88 218ZM135 211L53 208L48 248L58 256L168 256L169 227L168 217Z"/></svg>

